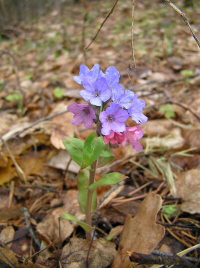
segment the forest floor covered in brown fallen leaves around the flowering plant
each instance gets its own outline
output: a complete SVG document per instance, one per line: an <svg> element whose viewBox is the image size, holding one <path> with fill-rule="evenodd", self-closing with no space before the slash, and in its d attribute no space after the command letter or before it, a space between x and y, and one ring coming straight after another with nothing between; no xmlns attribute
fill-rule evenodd
<svg viewBox="0 0 200 268"><path fill-rule="evenodd" d="M93 216L95 238L123 225L127 214L135 216L147 193L155 192L162 198L156 223L165 227L156 249L177 253L200 243L199 49L164 1L136 1L135 69L130 60L132 3L119 0L85 51L113 4L67 4L59 13L7 30L8 38L0 41L0 267L81 267L77 255L85 245L73 245L72 260L67 259L74 252L66 245L71 237L84 238L83 230L74 222L59 221L62 212L84 219L76 198L78 167L69 163L62 143L63 137L84 139L93 131L72 125L72 115L66 113L69 103L81 102L81 86L72 79L80 64L91 68L98 63L102 70L115 66L124 88L145 100L148 117L142 125L143 150L119 147L113 150L115 160L97 170L96 179L111 171L128 179L110 194L109 186L98 189L103 201ZM199 37L199 3L176 4ZM142 213L141 222L155 223ZM146 237L147 225L142 226ZM113 235L108 247L118 242L119 235ZM140 249L147 252L146 244ZM199 250L188 256L197 261ZM94 263L106 257L98 258ZM88 267L106 267L97 265L89 262Z"/></svg>

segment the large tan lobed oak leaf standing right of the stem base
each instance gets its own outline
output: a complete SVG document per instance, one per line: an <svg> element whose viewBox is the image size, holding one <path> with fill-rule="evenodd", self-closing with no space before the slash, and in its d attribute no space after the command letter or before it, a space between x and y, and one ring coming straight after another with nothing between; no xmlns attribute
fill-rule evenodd
<svg viewBox="0 0 200 268"><path fill-rule="evenodd" d="M112 268L132 267L127 251L149 254L162 239L165 229L155 223L161 204L161 197L150 192L141 202L135 217L126 216Z"/></svg>

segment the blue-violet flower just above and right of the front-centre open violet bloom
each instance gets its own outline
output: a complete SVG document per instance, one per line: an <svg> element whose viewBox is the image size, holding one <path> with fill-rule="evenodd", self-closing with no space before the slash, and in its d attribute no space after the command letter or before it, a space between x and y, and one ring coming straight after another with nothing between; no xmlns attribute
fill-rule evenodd
<svg viewBox="0 0 200 268"><path fill-rule="evenodd" d="M122 108L130 108L133 97L134 93L131 90L125 90L124 92L120 84L115 85L112 89L112 101Z"/></svg>

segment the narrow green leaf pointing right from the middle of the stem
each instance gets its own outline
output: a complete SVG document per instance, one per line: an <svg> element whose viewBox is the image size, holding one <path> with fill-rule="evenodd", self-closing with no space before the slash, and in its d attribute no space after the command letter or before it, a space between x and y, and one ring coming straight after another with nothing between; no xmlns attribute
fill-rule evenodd
<svg viewBox="0 0 200 268"><path fill-rule="evenodd" d="M102 186L102 185L116 184L125 178L127 178L127 176L119 172L111 172L102 176L102 178L100 178L98 181L95 181L92 184L90 184L88 186L88 189L95 189L98 186Z"/></svg>

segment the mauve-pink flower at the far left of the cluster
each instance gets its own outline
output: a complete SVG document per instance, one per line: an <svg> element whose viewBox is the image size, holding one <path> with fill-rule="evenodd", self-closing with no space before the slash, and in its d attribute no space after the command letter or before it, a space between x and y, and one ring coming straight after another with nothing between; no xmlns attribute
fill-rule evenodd
<svg viewBox="0 0 200 268"><path fill-rule="evenodd" d="M67 110L74 114L71 123L73 125L81 125L82 123L86 128L92 127L93 120L96 118L94 110L89 104L71 103L68 105Z"/></svg>

